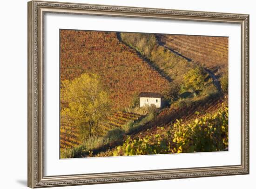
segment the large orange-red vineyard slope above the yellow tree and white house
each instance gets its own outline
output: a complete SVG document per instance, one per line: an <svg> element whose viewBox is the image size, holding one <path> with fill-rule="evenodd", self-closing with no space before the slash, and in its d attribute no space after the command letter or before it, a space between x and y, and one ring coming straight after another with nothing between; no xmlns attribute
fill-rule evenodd
<svg viewBox="0 0 256 189"><path fill-rule="evenodd" d="M61 81L96 73L109 89L114 109L128 107L140 92L162 92L168 80L122 44L115 32L61 30Z"/></svg>

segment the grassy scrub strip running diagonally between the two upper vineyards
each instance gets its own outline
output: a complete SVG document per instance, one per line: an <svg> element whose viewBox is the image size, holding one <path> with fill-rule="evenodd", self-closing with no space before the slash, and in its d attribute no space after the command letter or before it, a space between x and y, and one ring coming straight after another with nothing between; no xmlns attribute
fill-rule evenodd
<svg viewBox="0 0 256 189"><path fill-rule="evenodd" d="M182 82L184 74L195 67L186 58L159 45L155 34L121 32L120 40L138 51L171 80Z"/></svg>

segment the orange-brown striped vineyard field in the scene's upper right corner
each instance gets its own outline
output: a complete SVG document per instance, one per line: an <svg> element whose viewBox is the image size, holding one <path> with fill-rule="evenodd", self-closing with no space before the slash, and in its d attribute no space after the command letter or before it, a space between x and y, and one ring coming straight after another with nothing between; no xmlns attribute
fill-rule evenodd
<svg viewBox="0 0 256 189"><path fill-rule="evenodd" d="M162 45L213 72L222 73L228 68L229 38L227 37L162 34L156 37Z"/></svg>

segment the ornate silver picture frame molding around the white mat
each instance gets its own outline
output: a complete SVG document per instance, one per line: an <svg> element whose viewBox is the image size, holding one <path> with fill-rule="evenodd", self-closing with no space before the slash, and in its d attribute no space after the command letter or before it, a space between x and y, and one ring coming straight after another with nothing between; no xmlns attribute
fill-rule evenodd
<svg viewBox="0 0 256 189"><path fill-rule="evenodd" d="M241 25L241 164L168 170L44 176L44 13L175 19ZM28 186L31 188L249 174L249 15L154 8L28 2Z"/></svg>

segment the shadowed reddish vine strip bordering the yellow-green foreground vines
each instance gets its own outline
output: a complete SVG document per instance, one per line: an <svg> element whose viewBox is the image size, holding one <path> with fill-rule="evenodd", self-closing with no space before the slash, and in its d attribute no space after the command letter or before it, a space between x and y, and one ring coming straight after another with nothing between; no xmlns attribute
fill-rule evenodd
<svg viewBox="0 0 256 189"><path fill-rule="evenodd" d="M161 132L166 133L170 127L172 127L176 120L182 120L183 124L188 124L195 119L201 119L206 114L214 114L220 110L224 105L227 105L227 98L214 98L206 101L201 101L193 104L190 107L171 107L165 108L161 113L159 113L154 120L148 122L148 124L143 127L135 130L131 133L129 139L137 139L147 137L148 135L159 134L159 128L161 127ZM127 139L125 137L123 142ZM101 152L95 154L95 157L98 156L113 156L113 152L116 150L116 147L107 150L106 152ZM121 154L119 154L121 155Z"/></svg>

